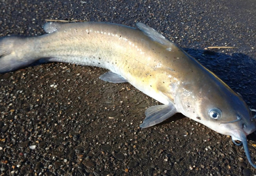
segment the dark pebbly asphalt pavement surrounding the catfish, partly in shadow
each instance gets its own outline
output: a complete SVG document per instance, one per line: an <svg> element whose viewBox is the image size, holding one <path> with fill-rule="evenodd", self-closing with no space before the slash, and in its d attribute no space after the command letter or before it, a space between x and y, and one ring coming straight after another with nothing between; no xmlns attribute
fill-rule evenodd
<svg viewBox="0 0 256 176"><path fill-rule="evenodd" d="M254 0L0 1L0 37L45 34L46 19L144 22L256 109ZM47 63L0 74L0 176L256 174L242 146L181 114L140 129L159 103L103 82L106 71ZM256 161L256 135L247 139Z"/></svg>

